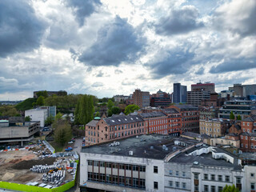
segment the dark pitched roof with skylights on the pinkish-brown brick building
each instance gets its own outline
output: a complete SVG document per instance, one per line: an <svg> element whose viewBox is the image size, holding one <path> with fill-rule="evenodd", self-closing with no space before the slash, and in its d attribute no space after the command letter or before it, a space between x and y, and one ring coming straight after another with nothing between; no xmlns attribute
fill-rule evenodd
<svg viewBox="0 0 256 192"><path fill-rule="evenodd" d="M103 118L109 126L122 125L132 122L143 122L144 120L138 115L114 115L110 118Z"/></svg>

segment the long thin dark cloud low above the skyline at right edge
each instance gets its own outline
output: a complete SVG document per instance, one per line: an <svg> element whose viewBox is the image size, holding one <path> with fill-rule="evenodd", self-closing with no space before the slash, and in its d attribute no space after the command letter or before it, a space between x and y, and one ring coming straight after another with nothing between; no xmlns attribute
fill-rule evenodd
<svg viewBox="0 0 256 192"><path fill-rule="evenodd" d="M249 70L256 68L256 58L234 58L212 66L210 69L211 74L226 73L230 71Z"/></svg>

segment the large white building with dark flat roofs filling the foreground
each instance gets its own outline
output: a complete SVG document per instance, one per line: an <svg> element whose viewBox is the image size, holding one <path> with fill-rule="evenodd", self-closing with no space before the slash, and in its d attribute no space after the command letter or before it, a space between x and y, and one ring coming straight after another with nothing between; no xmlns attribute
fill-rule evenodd
<svg viewBox="0 0 256 192"><path fill-rule="evenodd" d="M140 135L83 147L81 191L255 191L256 166L217 146L166 135Z"/></svg>

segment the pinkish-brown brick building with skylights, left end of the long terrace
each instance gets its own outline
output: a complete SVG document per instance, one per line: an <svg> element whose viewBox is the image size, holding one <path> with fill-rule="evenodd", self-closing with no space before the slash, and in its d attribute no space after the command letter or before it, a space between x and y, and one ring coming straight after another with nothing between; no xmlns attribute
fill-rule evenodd
<svg viewBox="0 0 256 192"><path fill-rule="evenodd" d="M139 115L113 115L86 124L86 145L146 134L144 120Z"/></svg>

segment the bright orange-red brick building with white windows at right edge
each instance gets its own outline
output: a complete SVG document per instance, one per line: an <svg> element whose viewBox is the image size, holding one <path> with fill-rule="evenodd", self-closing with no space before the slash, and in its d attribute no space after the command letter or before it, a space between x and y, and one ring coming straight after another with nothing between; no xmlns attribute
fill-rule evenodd
<svg viewBox="0 0 256 192"><path fill-rule="evenodd" d="M256 115L242 120L240 149L245 152L256 152Z"/></svg>

